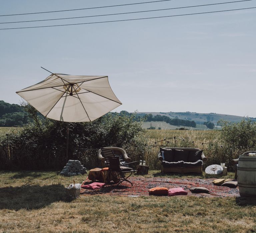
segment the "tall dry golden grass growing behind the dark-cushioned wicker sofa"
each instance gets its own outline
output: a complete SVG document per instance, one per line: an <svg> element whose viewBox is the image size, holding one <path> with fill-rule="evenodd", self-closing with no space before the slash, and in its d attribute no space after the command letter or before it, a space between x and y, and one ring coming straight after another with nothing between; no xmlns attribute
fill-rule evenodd
<svg viewBox="0 0 256 233"><path fill-rule="evenodd" d="M207 161L203 167L210 164L225 162L229 170L233 170L231 160L238 158L239 154L246 151L245 148L237 149L220 146L222 140L219 130L147 130L146 135L150 147L145 154L146 163L151 169L160 169L161 162L157 158L159 147L194 147L204 151ZM168 139L176 137L176 139ZM166 139L165 141L157 142ZM183 140L184 139L184 140ZM194 141L194 142L193 142ZM245 150L245 151L244 151Z"/></svg>

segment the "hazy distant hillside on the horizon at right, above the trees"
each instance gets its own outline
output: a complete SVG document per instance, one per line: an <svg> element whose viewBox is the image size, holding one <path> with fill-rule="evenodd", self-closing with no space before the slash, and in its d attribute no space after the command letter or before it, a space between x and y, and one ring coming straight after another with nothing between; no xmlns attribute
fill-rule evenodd
<svg viewBox="0 0 256 233"><path fill-rule="evenodd" d="M138 112L139 116L144 116L145 114L152 114L153 116L161 115L168 116L170 118L179 118L184 120L194 120L197 125L202 125L206 121L211 121L217 125L218 120L224 119L231 122L240 122L243 116L233 116L227 114L218 113L195 113L195 112L167 112L167 113L157 113L157 112ZM254 117L250 117L252 120L256 120ZM198 127L198 126L197 126Z"/></svg>

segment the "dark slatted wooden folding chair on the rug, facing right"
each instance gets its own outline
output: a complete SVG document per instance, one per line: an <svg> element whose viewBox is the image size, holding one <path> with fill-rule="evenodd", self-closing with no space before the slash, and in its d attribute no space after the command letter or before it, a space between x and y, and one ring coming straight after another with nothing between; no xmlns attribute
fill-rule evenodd
<svg viewBox="0 0 256 233"><path fill-rule="evenodd" d="M119 156L115 156L113 150L107 149L107 148L101 148L101 152L103 153L102 155L105 158L107 165L109 167L109 172L111 173L111 178L108 180L108 182L110 182L111 180L113 181L118 180L117 185L119 185L122 182L127 181L132 185L132 182L127 180L127 178L129 178L137 170L134 170L134 168L131 168L131 167L121 166ZM126 163L125 165L136 163L136 162L138 161ZM127 174L128 176L125 176Z"/></svg>

